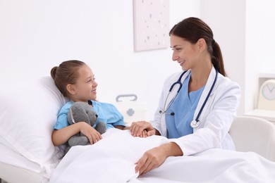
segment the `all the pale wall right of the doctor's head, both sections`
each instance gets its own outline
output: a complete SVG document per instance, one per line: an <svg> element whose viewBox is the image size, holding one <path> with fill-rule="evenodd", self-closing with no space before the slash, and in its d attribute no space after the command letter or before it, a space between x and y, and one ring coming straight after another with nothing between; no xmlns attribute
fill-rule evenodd
<svg viewBox="0 0 275 183"><path fill-rule="evenodd" d="M202 19L221 46L228 76L242 89L238 115L257 107L259 72L275 68L274 8L274 0L202 1Z"/></svg>

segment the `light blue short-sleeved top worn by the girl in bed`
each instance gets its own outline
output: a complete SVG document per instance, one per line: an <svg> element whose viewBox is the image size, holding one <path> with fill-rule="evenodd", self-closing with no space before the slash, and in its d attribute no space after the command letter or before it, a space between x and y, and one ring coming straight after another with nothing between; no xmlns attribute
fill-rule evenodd
<svg viewBox="0 0 275 183"><path fill-rule="evenodd" d="M68 115L68 110L69 108L71 108L72 104L73 104L73 101L68 101L59 111L56 125L54 125L55 130L59 130L69 125L67 115ZM123 115L119 113L117 108L111 103L102 103L98 101L92 101L92 110L94 110L98 115L97 123L104 122L106 124L107 130L109 128L114 128L114 126L116 125L122 125L124 127L126 126L123 120Z"/></svg>

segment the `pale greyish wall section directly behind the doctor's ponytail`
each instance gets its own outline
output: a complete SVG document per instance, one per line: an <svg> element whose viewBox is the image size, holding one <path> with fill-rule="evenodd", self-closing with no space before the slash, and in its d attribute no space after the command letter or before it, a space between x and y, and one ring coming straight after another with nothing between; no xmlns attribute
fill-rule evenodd
<svg viewBox="0 0 275 183"><path fill-rule="evenodd" d="M214 32L214 39L221 47L224 67L231 80L241 87L238 115L245 112L245 0L202 1L202 20Z"/></svg>

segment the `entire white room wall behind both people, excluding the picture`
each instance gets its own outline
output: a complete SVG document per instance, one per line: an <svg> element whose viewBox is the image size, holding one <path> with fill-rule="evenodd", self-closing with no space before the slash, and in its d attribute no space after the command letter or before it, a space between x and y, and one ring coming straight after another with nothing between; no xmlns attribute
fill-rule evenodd
<svg viewBox="0 0 275 183"><path fill-rule="evenodd" d="M275 68L274 7L273 0L169 1L169 27L190 16L212 27L228 77L242 89L238 115L257 107L259 75ZM99 101L136 94L150 120L164 79L181 70L169 47L134 50L132 0L0 0L0 23L1 88L77 59L92 68Z"/></svg>

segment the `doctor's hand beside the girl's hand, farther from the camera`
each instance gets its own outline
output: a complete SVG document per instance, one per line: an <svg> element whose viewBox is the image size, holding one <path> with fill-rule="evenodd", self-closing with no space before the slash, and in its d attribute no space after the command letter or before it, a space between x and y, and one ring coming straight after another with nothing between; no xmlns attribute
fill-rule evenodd
<svg viewBox="0 0 275 183"><path fill-rule="evenodd" d="M147 121L133 122L130 126L130 132L134 137L149 137L153 134L159 134Z"/></svg>

